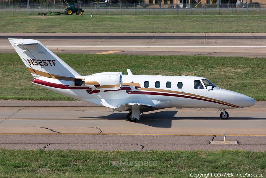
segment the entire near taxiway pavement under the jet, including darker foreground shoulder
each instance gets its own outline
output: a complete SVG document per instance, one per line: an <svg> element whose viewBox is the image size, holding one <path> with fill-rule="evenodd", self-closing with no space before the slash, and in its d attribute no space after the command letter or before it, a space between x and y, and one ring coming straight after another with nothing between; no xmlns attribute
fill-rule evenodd
<svg viewBox="0 0 266 178"><path fill-rule="evenodd" d="M227 120L213 109L169 108L144 113L137 122L127 121L127 112L80 101L0 105L0 147L7 149L266 151L266 102L228 109ZM224 134L236 144L211 144Z"/></svg>

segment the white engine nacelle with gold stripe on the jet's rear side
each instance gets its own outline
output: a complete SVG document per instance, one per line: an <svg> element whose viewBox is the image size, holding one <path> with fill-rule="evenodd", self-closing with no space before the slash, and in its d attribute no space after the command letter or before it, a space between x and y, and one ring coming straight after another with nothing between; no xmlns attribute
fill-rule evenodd
<svg viewBox="0 0 266 178"><path fill-rule="evenodd" d="M96 90L119 90L123 82L119 74L92 75L84 80L84 84Z"/></svg>

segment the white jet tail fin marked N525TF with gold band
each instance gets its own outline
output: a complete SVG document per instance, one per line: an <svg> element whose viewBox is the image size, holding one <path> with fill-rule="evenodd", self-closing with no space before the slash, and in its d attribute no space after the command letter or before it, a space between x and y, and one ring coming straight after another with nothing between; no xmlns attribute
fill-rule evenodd
<svg viewBox="0 0 266 178"><path fill-rule="evenodd" d="M34 77L75 78L80 76L40 41L8 39Z"/></svg>

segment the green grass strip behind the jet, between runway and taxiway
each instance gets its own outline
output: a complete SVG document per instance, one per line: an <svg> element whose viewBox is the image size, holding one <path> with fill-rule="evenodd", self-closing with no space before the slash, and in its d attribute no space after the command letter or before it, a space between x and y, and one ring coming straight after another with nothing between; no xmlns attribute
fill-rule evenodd
<svg viewBox="0 0 266 178"><path fill-rule="evenodd" d="M265 58L57 54L81 75L130 68L135 75L201 76L222 89L266 100ZM129 62L130 61L130 62ZM169 65L171 64L171 65ZM32 84L33 76L15 53L0 53L0 99L73 100Z"/></svg>

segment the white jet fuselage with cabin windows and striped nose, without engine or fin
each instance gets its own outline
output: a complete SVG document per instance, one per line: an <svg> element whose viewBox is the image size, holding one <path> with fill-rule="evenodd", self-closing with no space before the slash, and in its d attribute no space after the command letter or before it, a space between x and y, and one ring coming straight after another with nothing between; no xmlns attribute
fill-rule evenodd
<svg viewBox="0 0 266 178"><path fill-rule="evenodd" d="M121 75L123 85L119 90L92 90L85 86L70 85L73 83L62 81L65 88L51 87L55 80L46 78L46 85L38 82L33 83L59 92L66 96L91 102L94 104L116 108L125 103L142 103L155 106L143 108L141 112L162 108L244 108L254 105L255 100L240 93L220 89L215 86L210 90L204 85L202 89L195 88L195 81L202 82L203 77L193 76L144 76L144 75ZM87 78L88 76L79 76ZM38 79L38 78L37 78ZM41 78L43 80L43 78ZM50 81L50 82L49 82ZM60 81L60 80L59 80ZM148 82L148 86L144 83ZM179 84L179 86L178 86ZM156 85L156 86L155 86Z"/></svg>

